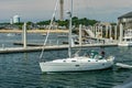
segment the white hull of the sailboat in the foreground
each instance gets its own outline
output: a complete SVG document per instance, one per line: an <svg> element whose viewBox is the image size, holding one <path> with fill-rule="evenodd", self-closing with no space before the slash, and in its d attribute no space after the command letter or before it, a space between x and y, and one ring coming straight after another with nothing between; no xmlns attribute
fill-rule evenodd
<svg viewBox="0 0 132 88"><path fill-rule="evenodd" d="M76 59L76 58L75 58ZM75 61L74 59L74 61ZM66 59L59 59L66 61ZM77 62L42 62L40 63L43 73L57 72L85 72L110 68L113 65L113 58L110 59L77 59Z"/></svg>

